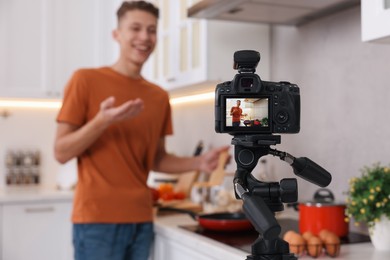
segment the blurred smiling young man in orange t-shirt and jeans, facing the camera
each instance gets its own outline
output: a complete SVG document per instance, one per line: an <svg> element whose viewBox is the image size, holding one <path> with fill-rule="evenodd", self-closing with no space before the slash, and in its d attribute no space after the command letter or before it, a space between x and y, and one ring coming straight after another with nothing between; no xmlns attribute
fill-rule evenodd
<svg viewBox="0 0 390 260"><path fill-rule="evenodd" d="M77 260L146 260L153 239L148 172L211 172L227 149L187 158L166 152L168 94L140 74L156 44L158 9L123 2L117 16L117 62L76 71L57 117L55 157L78 160L72 213Z"/></svg>

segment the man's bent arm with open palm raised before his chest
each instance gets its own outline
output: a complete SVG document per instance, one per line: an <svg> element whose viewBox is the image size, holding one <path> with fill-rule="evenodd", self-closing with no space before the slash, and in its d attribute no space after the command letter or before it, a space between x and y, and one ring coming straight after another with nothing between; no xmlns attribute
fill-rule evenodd
<svg viewBox="0 0 390 260"><path fill-rule="evenodd" d="M55 158L60 163L82 154L90 147L111 124L137 116L143 109L143 101L130 100L114 107L115 98L109 97L100 104L96 116L79 127L68 123L59 123L54 144Z"/></svg>

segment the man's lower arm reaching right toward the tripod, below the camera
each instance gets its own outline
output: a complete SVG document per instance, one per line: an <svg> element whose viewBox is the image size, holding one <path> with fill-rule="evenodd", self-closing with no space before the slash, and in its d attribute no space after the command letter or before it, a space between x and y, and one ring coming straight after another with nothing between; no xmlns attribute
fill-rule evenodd
<svg viewBox="0 0 390 260"><path fill-rule="evenodd" d="M165 139L161 138L153 170L165 173L182 173L193 170L211 173L218 166L219 155L229 146L212 149L200 156L178 157L165 150Z"/></svg>

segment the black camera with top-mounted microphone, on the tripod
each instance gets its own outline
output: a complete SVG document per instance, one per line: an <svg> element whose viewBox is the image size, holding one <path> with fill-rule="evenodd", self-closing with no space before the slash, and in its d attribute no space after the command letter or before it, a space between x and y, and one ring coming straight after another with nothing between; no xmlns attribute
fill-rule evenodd
<svg viewBox="0 0 390 260"><path fill-rule="evenodd" d="M299 87L289 82L262 81L255 74L260 53L234 53L232 81L216 86L215 131L236 134L298 133Z"/></svg>

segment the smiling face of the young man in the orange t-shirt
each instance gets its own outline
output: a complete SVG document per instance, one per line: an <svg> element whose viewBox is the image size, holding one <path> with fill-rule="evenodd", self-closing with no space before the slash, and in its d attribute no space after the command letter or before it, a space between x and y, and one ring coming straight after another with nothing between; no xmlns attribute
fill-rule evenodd
<svg viewBox="0 0 390 260"><path fill-rule="evenodd" d="M113 35L119 43L121 58L142 66L156 45L157 18L141 10L128 11Z"/></svg>

